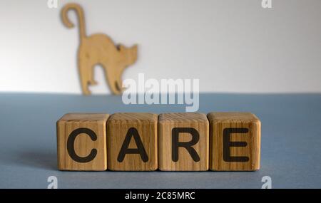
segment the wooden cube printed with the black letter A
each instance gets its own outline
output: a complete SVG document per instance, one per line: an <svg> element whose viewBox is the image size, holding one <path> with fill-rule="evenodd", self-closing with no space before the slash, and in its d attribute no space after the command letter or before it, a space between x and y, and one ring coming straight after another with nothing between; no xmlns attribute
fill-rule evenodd
<svg viewBox="0 0 321 203"><path fill-rule="evenodd" d="M107 123L108 170L153 171L158 167L158 115L116 113Z"/></svg>

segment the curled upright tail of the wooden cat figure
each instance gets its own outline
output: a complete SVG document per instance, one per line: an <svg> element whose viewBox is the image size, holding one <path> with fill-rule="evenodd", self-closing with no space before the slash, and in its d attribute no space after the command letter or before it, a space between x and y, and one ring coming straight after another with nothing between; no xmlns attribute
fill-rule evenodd
<svg viewBox="0 0 321 203"><path fill-rule="evenodd" d="M78 17L78 26L79 26L79 34L80 38L86 38L86 31L85 31L85 19L83 15L83 9L78 4L66 4L66 6L63 6L63 9L61 10L61 17L63 24L65 24L68 28L73 28L73 23L69 21L68 19L68 11L74 10L76 11L77 17Z"/></svg>

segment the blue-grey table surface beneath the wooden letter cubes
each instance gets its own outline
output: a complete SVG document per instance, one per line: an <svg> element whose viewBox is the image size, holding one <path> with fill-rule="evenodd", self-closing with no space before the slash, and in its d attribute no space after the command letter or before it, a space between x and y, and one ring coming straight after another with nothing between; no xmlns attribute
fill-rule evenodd
<svg viewBox="0 0 321 203"><path fill-rule="evenodd" d="M200 94L200 112L250 111L262 122L257 172L61 172L56 120L64 113L183 112L184 105L124 105L113 95L0 93L0 188L321 187L321 94Z"/></svg>

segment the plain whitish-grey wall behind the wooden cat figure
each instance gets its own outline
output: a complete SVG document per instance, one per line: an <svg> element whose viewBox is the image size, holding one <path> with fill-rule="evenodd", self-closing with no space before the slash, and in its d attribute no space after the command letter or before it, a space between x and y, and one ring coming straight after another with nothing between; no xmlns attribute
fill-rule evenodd
<svg viewBox="0 0 321 203"><path fill-rule="evenodd" d="M63 4L0 1L0 91L81 93ZM83 0L86 31L139 45L125 78L199 78L200 91L321 92L321 1ZM76 15L71 12L71 20ZM110 93L103 69L93 93Z"/></svg>

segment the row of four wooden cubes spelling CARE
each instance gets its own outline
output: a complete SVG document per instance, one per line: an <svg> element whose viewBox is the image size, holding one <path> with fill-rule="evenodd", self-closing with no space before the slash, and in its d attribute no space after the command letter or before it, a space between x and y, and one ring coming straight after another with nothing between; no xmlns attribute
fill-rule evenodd
<svg viewBox="0 0 321 203"><path fill-rule="evenodd" d="M254 171L252 113L69 113L57 121L59 170Z"/></svg>

